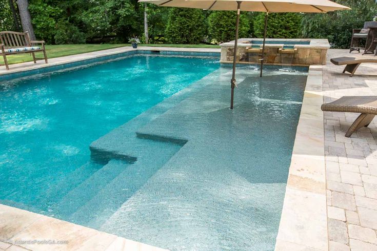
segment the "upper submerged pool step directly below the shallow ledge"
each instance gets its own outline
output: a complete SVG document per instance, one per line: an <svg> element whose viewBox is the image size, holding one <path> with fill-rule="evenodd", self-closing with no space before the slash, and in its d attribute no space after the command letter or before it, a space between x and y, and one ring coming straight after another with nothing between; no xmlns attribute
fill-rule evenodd
<svg viewBox="0 0 377 251"><path fill-rule="evenodd" d="M137 138L135 134L127 144L144 144L145 151L66 220L92 228L100 227L181 149L178 144Z"/></svg>

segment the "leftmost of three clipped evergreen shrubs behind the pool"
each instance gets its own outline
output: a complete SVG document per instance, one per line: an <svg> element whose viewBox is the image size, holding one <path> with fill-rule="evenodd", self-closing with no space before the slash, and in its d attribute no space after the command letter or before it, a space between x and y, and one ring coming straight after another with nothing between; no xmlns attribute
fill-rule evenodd
<svg viewBox="0 0 377 251"><path fill-rule="evenodd" d="M205 34L203 10L172 8L165 35L173 44L199 44Z"/></svg>

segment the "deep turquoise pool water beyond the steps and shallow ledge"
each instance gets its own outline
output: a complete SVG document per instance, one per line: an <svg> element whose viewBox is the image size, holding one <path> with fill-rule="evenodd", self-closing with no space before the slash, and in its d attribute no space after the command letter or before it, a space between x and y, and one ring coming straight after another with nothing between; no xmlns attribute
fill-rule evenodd
<svg viewBox="0 0 377 251"><path fill-rule="evenodd" d="M1 83L0 202L55 215L52 205L102 168L92 141L219 67L131 56Z"/></svg>

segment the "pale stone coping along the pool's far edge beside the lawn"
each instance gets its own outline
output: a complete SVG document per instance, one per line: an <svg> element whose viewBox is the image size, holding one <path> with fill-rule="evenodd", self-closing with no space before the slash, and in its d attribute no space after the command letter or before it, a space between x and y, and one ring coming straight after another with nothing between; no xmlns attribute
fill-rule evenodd
<svg viewBox="0 0 377 251"><path fill-rule="evenodd" d="M70 62L76 62L86 59L92 59L97 57L103 57L103 56L109 56L114 54L120 54L128 51L177 51L177 52L219 52L220 49L212 49L212 48L176 48L176 47L139 47L137 49L133 49L132 47L126 46L126 47L119 47L114 49L108 49L108 50L102 50L102 51L94 51L94 52L88 52L88 53L82 53L82 54L75 54L70 56L64 56L64 57L55 57L55 58L49 58L48 64L45 64L44 60L37 60L36 64L31 62L23 62L20 64L13 64L9 65L9 70L6 70L5 66L0 66L0 75L3 74L9 74L9 73L16 73L16 72L23 72L33 69L39 69L39 68L45 68L45 67L51 67L56 65L62 65L67 64ZM48 55L47 55L48 56Z"/></svg>

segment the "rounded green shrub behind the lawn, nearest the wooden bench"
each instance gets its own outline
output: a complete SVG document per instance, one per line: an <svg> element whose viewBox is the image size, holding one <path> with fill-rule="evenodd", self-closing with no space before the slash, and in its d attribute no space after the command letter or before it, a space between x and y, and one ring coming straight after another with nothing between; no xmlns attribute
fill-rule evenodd
<svg viewBox="0 0 377 251"><path fill-rule="evenodd" d="M80 32L76 26L65 20L57 23L55 32L55 44L85 44L85 34Z"/></svg>

